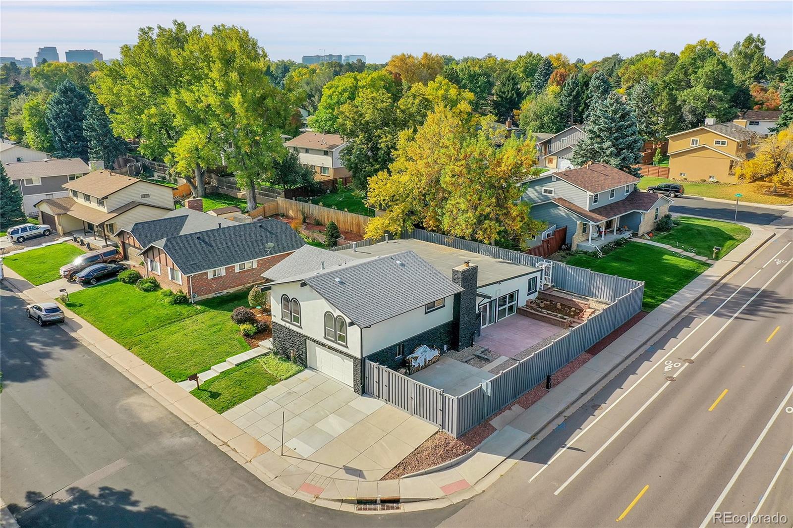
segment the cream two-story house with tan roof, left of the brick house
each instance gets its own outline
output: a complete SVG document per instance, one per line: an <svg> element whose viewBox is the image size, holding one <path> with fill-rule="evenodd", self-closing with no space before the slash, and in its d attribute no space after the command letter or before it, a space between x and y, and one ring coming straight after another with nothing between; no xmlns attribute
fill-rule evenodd
<svg viewBox="0 0 793 528"><path fill-rule="evenodd" d="M110 170L94 170L63 184L66 197L36 203L40 220L61 235L94 233L105 243L113 233L142 220L155 220L174 209L173 189Z"/></svg>

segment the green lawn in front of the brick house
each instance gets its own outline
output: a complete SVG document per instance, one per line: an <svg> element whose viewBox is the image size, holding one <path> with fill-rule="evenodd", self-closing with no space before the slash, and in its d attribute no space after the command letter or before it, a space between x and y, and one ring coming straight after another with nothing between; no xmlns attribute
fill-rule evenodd
<svg viewBox="0 0 793 528"><path fill-rule="evenodd" d="M231 312L247 290L196 304L167 304L118 281L70 294L67 308L174 381L249 350Z"/></svg>

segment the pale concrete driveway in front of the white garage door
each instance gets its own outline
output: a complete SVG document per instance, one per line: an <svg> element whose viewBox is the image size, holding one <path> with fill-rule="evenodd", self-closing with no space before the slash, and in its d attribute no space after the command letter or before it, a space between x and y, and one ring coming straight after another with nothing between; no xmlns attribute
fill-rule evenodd
<svg viewBox="0 0 793 528"><path fill-rule="evenodd" d="M270 449L274 463L344 480L380 479L438 430L309 369L223 416Z"/></svg>

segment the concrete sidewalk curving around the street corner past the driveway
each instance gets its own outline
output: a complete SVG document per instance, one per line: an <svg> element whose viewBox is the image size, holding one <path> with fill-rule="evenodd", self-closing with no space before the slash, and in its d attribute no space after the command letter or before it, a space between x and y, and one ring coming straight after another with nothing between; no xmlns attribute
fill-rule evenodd
<svg viewBox="0 0 793 528"><path fill-rule="evenodd" d="M344 471L327 476L328 472L316 473L316 465L306 464L305 460L286 460L69 310L66 310L64 328L262 482L285 495L318 506L358 513L383 513L377 507L367 511L358 511L356 507L358 503L375 502L377 499L398 499L399 509L391 511L446 507L488 488L542 440L540 434L547 430L547 426L563 422L565 411L583 404L588 393L606 383L619 372L621 365L640 354L642 347L667 323L703 297L722 277L730 274L773 236L768 229L750 227L752 235L749 239L650 312L565 381L551 388L537 403L525 411L523 407L512 407L511 411L493 419L496 432L471 453L399 480L366 480L360 473L347 475ZM47 293L30 285L12 270L6 270L6 279L23 297L36 302L51 300ZM383 449L388 449L388 446ZM344 468L342 462L336 469Z"/></svg>

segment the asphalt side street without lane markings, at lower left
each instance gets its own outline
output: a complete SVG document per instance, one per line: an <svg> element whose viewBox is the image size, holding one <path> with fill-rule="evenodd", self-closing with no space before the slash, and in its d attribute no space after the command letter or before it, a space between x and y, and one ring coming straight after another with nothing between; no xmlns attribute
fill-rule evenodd
<svg viewBox="0 0 793 528"><path fill-rule="evenodd" d="M0 497L21 526L433 526L262 484L59 327L0 290Z"/></svg>

